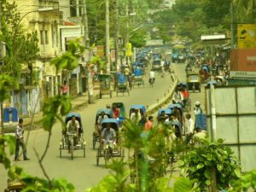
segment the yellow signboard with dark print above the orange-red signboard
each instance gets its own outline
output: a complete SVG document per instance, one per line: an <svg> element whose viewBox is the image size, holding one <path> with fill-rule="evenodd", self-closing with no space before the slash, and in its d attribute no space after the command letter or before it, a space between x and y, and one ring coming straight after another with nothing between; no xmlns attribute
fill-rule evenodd
<svg viewBox="0 0 256 192"><path fill-rule="evenodd" d="M237 48L256 48L255 24L237 24Z"/></svg>

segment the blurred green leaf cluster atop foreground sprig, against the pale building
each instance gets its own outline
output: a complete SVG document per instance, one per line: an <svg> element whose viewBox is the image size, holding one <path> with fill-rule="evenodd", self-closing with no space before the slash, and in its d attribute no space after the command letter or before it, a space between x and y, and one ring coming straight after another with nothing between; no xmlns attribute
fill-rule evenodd
<svg viewBox="0 0 256 192"><path fill-rule="evenodd" d="M84 53L84 47L78 41L71 41L67 46L67 52L50 62L56 67L56 73L61 69L73 70L79 66L79 57Z"/></svg>

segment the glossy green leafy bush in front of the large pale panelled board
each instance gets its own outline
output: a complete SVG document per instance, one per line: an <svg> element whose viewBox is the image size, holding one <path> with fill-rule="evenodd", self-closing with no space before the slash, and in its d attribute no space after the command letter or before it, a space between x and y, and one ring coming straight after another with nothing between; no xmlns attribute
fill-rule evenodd
<svg viewBox="0 0 256 192"><path fill-rule="evenodd" d="M183 174L195 180L201 190L211 184L211 172L216 170L217 189L227 189L232 181L240 177L240 166L229 147L222 140L205 141L203 145L189 151L178 161Z"/></svg>

